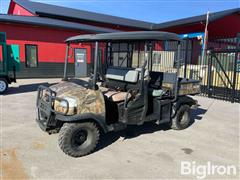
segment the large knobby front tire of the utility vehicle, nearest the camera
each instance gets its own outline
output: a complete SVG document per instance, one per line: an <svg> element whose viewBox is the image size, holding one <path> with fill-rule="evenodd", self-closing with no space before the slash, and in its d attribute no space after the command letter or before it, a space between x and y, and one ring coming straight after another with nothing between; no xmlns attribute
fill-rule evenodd
<svg viewBox="0 0 240 180"><path fill-rule="evenodd" d="M95 150L99 136L95 123L65 123L59 133L59 147L69 156L85 156Z"/></svg>

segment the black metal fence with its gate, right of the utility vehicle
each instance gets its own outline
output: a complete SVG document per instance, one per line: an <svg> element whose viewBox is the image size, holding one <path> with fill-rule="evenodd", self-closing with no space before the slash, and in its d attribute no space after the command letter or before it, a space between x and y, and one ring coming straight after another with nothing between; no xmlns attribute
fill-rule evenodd
<svg viewBox="0 0 240 180"><path fill-rule="evenodd" d="M209 39L204 58L200 42L186 40L180 76L199 79L201 95L240 102L239 39L240 36Z"/></svg>

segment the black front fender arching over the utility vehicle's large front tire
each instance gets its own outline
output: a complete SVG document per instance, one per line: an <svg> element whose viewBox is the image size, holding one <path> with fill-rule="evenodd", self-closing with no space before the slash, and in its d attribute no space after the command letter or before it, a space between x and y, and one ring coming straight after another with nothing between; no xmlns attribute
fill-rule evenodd
<svg viewBox="0 0 240 180"><path fill-rule="evenodd" d="M92 113L85 113L85 114L76 114L72 116L64 116L61 114L56 114L56 119L62 122L86 122L86 121L93 121L97 123L105 133L109 131L108 126L105 122L104 116L92 114Z"/></svg>

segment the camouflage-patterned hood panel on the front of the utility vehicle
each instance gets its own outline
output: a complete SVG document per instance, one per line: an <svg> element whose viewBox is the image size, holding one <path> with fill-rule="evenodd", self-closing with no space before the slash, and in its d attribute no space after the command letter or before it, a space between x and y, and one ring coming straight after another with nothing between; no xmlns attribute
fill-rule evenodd
<svg viewBox="0 0 240 180"><path fill-rule="evenodd" d="M69 107L66 115L93 113L105 117L105 101L101 91L92 90L73 82L60 82L50 87L59 98L76 100L77 107ZM54 109L64 113L66 108L59 101L55 101Z"/></svg>

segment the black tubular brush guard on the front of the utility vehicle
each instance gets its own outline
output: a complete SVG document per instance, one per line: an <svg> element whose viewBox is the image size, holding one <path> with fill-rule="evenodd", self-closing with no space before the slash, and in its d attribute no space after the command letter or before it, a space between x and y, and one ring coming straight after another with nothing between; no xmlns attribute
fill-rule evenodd
<svg viewBox="0 0 240 180"><path fill-rule="evenodd" d="M65 101L67 104L66 111L59 113L54 110L56 101ZM67 100L56 97L56 92L46 86L39 86L37 94L37 118L36 121L39 127L46 132L57 128L57 114L66 115L69 109Z"/></svg>

